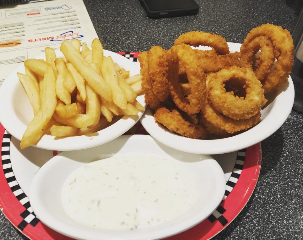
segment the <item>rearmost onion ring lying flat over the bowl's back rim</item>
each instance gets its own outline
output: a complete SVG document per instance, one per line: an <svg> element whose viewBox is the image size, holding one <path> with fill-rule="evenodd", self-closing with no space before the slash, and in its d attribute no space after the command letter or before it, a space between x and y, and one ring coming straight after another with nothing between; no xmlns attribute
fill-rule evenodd
<svg viewBox="0 0 303 240"><path fill-rule="evenodd" d="M205 33L199 31L192 31L181 34L176 40L175 45L189 44L192 46L210 46L213 47L218 54L229 53L229 47L224 37L217 34Z"/></svg>

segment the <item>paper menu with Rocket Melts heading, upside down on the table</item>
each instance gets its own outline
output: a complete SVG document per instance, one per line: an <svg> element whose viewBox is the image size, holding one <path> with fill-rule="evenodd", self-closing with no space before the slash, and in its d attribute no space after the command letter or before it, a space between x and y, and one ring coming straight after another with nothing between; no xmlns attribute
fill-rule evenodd
<svg viewBox="0 0 303 240"><path fill-rule="evenodd" d="M63 40L98 37L82 0L53 0L0 8L0 86L26 59L59 49Z"/></svg>

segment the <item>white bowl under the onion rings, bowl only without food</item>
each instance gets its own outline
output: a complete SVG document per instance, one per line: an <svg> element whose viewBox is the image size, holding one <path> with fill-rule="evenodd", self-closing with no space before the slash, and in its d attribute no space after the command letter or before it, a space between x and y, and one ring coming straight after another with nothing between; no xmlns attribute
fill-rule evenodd
<svg viewBox="0 0 303 240"><path fill-rule="evenodd" d="M240 51L240 43L228 43L231 53ZM199 49L208 49L200 47ZM261 121L251 129L236 136L201 140L191 139L171 132L156 122L148 107L140 119L145 130L159 142L183 152L197 154L221 154L247 148L269 137L282 126L294 104L295 89L291 77L276 93L275 100L261 110Z"/></svg>

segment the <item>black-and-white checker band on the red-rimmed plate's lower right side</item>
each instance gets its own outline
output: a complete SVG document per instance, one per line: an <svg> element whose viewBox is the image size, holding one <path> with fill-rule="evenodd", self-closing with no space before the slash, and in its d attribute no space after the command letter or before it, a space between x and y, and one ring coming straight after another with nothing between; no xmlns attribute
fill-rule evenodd
<svg viewBox="0 0 303 240"><path fill-rule="evenodd" d="M244 165L245 152L246 149L242 149L239 150L237 153L235 167L232 170L230 178L226 182L225 194L222 201L224 201L226 197L231 193L231 190L235 187L240 177ZM218 220L222 224L222 226L225 226L228 223L227 219L223 216L223 213L225 213L225 211L226 211L225 208L219 205L217 209L213 213L211 213L211 215L208 217L208 220L211 223Z"/></svg>

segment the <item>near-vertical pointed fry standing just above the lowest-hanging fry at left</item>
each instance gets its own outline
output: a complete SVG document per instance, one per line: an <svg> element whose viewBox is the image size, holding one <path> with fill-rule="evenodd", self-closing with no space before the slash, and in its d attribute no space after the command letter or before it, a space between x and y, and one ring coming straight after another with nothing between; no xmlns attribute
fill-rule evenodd
<svg viewBox="0 0 303 240"><path fill-rule="evenodd" d="M43 78L41 103L44 125L46 125L52 118L52 115L55 112L56 105L56 76L52 66L48 65Z"/></svg>

